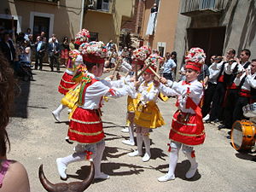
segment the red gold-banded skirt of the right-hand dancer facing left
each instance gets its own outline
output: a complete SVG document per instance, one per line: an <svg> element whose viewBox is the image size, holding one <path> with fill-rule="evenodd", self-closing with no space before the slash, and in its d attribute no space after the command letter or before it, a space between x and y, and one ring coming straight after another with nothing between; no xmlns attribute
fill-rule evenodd
<svg viewBox="0 0 256 192"><path fill-rule="evenodd" d="M201 125L198 125L200 123ZM173 115L169 138L177 143L199 145L205 141L204 125L196 120L196 115L177 111Z"/></svg>

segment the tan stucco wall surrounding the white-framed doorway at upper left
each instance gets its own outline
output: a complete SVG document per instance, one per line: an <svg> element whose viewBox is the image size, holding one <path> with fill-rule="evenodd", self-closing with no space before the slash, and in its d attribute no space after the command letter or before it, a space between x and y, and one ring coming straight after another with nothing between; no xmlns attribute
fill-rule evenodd
<svg viewBox="0 0 256 192"><path fill-rule="evenodd" d="M12 0L9 1L9 9L12 15L21 16L22 32L26 32L26 28L30 27L31 12L54 15L53 33L58 38L71 38L79 32L81 0L61 0L59 4Z"/></svg>

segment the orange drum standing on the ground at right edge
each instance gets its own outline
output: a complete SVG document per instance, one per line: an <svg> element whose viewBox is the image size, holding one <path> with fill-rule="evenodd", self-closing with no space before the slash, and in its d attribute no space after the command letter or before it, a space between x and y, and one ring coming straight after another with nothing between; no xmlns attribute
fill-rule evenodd
<svg viewBox="0 0 256 192"><path fill-rule="evenodd" d="M237 151L252 149L255 144L255 125L249 120L236 120L232 126L231 143Z"/></svg>

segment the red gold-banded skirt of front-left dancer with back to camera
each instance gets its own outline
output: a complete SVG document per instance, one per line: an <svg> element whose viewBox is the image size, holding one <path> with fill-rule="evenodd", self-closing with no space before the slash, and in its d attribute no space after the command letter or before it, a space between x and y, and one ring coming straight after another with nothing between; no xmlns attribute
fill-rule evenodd
<svg viewBox="0 0 256 192"><path fill-rule="evenodd" d="M78 143L98 143L104 137L102 119L96 110L76 108L70 119L67 136Z"/></svg>

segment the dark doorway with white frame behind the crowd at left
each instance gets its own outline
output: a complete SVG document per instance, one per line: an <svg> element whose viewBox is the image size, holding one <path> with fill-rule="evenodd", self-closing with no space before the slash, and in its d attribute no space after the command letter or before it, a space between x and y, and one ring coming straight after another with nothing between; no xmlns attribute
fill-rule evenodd
<svg viewBox="0 0 256 192"><path fill-rule="evenodd" d="M49 38L49 18L48 17L34 17L34 27L33 27L33 37L34 40L41 34L45 32L46 38Z"/></svg>

